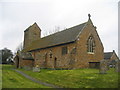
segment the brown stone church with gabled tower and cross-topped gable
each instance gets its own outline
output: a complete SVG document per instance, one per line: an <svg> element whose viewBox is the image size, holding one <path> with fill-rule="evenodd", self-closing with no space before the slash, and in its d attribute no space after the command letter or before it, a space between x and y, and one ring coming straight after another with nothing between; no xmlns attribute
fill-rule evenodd
<svg viewBox="0 0 120 90"><path fill-rule="evenodd" d="M100 60L104 59L104 47L90 14L88 16L87 22L43 38L36 23L28 27L24 31L24 49L16 57L16 66L98 68Z"/></svg>

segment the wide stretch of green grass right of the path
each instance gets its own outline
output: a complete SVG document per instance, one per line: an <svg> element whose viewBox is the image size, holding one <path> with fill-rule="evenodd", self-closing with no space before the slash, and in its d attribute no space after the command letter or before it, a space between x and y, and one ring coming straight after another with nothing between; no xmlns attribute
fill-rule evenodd
<svg viewBox="0 0 120 90"><path fill-rule="evenodd" d="M41 72L19 70L43 82L65 88L118 88L118 73L114 69L110 69L107 74L99 74L98 69L41 69Z"/></svg>

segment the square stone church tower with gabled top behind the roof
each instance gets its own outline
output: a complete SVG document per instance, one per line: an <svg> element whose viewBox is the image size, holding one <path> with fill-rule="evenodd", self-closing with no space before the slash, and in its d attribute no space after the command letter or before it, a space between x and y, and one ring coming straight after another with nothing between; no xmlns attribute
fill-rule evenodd
<svg viewBox="0 0 120 90"><path fill-rule="evenodd" d="M35 22L33 25L31 25L24 31L24 47L23 48L30 46L30 44L33 41L38 40L40 38L41 38L41 29Z"/></svg>

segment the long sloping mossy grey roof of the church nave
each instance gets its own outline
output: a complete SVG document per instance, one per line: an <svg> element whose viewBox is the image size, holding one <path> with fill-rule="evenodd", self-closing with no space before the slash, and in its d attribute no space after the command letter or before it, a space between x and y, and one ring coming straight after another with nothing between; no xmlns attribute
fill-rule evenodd
<svg viewBox="0 0 120 90"><path fill-rule="evenodd" d="M51 34L49 36L40 38L39 40L32 42L31 46L24 49L24 51L33 51L37 49L74 42L85 25L86 25L86 22L80 25L65 29L63 31Z"/></svg>

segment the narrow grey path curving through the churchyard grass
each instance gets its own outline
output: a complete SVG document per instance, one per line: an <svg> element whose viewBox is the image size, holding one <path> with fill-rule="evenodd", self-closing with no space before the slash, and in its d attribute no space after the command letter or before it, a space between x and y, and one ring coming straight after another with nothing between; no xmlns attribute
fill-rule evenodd
<svg viewBox="0 0 120 90"><path fill-rule="evenodd" d="M32 80L33 82L36 82L36 83L39 83L39 84L42 84L42 85L45 85L45 86L53 87L53 88L60 88L60 87L55 86L55 85L53 85L53 84L41 82L41 81L39 81L39 80L37 80L37 79L35 79L35 78L33 78L33 77L31 77L31 76L29 76L29 75L23 73L22 71L19 71L19 70L16 70L16 69L13 69L13 70L15 70L16 72L20 73L20 74L23 75L24 77L26 77L26 78Z"/></svg>

